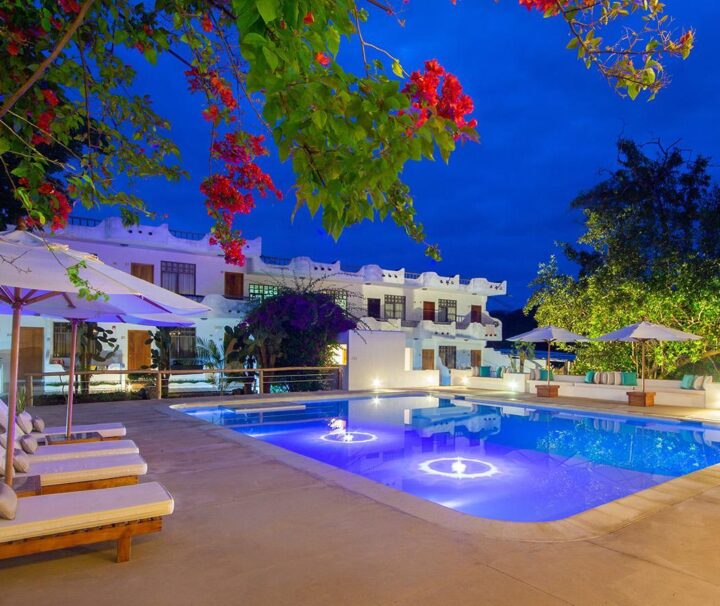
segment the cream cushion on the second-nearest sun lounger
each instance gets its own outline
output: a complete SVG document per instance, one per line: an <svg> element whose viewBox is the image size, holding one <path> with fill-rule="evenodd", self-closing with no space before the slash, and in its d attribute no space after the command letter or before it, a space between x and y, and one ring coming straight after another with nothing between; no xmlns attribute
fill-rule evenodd
<svg viewBox="0 0 720 606"><path fill-rule="evenodd" d="M147 463L140 455L136 454L81 457L79 459L33 462L27 473L40 476L42 486L55 486L125 476L144 476L147 473Z"/></svg>

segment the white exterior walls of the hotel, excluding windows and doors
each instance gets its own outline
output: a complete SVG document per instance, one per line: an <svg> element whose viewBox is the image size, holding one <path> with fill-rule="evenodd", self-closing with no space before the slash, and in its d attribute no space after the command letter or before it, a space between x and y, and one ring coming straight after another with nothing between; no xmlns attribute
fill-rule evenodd
<svg viewBox="0 0 720 606"><path fill-rule="evenodd" d="M133 263L151 264L156 284L161 284L163 261L194 264L195 295L212 308L207 317L193 320L196 334L203 339L222 339L226 325L236 324L247 309L251 284L278 285L302 280L321 280L323 288L340 288L349 292L348 308L361 317L364 327L370 331L398 333L404 340L399 353L400 370L405 371L405 360L411 361L411 370L421 372L422 350L435 352L434 368L440 369L449 379L438 356L440 346L457 348L456 366L470 366L470 351L486 349L488 341L502 338L502 326L486 312L481 322L471 322L472 305L486 309L488 297L503 295L505 282L489 282L485 278L461 279L460 276L439 276L434 272L411 273L404 269L388 270L378 265L364 265L350 270L339 262L322 263L308 257L279 259L262 255L260 238L250 240L244 247L247 264L243 268L229 266L215 246L210 245L209 234L178 232L168 225L123 227L119 218L104 221L71 218L71 224L54 236L59 244L96 254L103 262L120 270L130 272ZM225 293L225 273L243 273L243 298L230 298ZM385 319L385 295L401 295L406 298L406 314L402 319ZM381 300L381 318L367 317L367 299ZM457 301L457 318L451 322L423 320L423 302L439 299ZM52 363L53 321L26 316L23 326L45 328L46 372L60 368ZM148 327L125 324L108 325L118 338L120 349L108 364L127 368L127 331L148 330ZM8 350L10 346L10 318L0 317L0 356L3 378L7 380ZM393 337L399 338L399 337ZM404 348L409 348L407 356ZM404 375L403 375L404 376ZM433 375L434 376L434 375ZM425 380L425 375L418 375ZM422 382L422 381L421 381ZM415 386L415 385L413 385Z"/></svg>

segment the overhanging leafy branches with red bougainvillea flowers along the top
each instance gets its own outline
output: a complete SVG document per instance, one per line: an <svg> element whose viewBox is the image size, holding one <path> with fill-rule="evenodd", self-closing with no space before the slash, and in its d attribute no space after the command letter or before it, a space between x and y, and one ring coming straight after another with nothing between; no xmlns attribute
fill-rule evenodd
<svg viewBox="0 0 720 606"><path fill-rule="evenodd" d="M693 46L693 31L669 29L657 0L518 1L563 19L569 46L631 98L655 95L666 59ZM400 20L387 0L0 0L0 169L35 225L62 228L72 204L115 204L137 222L150 211L133 181L183 175L169 123L149 96L128 92L128 56L165 54L207 101L212 168L201 192L228 262L244 260L235 217L257 196L280 195L259 164L265 137L292 164L296 209L320 212L334 237L390 216L425 242L403 169L436 154L447 161L459 141L476 139L473 102L437 61L408 73L367 40L371 13ZM341 56L350 42L360 69ZM78 138L68 161L43 153ZM58 182L48 179L54 169Z"/></svg>

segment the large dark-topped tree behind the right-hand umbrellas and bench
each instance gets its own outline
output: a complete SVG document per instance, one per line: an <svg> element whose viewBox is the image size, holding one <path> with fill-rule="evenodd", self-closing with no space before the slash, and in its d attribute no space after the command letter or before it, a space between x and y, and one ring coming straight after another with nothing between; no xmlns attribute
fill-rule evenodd
<svg viewBox="0 0 720 606"><path fill-rule="evenodd" d="M577 277L561 272L554 257L541 264L526 310L540 324L591 337L643 319L693 332L703 340L652 348L649 376L713 372L720 354L720 188L708 158L651 147L654 155L618 142L619 166L572 202L586 231L562 250L577 264ZM577 351L578 370L639 363L640 352L626 344L568 349Z"/></svg>

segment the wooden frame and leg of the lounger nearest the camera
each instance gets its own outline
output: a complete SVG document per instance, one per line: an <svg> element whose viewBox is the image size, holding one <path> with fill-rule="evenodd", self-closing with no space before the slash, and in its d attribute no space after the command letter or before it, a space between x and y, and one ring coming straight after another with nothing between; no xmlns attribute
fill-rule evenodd
<svg viewBox="0 0 720 606"><path fill-rule="evenodd" d="M92 545L106 541L117 542L117 562L130 560L130 549L132 538L151 532L162 530L162 517L147 518L145 520L133 520L130 522L119 522L96 528L86 528L62 532L59 534L44 537L33 537L31 539L20 539L9 543L0 543L0 560L17 558L20 556L67 549L79 545Z"/></svg>

